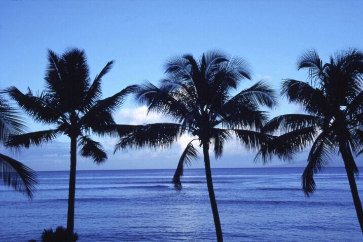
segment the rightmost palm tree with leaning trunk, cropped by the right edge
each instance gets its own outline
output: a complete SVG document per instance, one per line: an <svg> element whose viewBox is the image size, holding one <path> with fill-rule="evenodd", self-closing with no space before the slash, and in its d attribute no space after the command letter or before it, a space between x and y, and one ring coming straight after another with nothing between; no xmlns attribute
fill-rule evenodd
<svg viewBox="0 0 363 242"><path fill-rule="evenodd" d="M281 94L305 113L271 119L265 132L280 135L267 141L256 158L267 162L277 155L289 161L310 148L302 175L303 190L310 196L315 191L314 175L329 166L334 155L341 154L363 232L363 211L354 178L358 168L353 157L363 145L363 53L353 48L343 50L322 64L317 51L309 50L298 61L298 69L305 68L310 83L286 79L281 85Z"/></svg>

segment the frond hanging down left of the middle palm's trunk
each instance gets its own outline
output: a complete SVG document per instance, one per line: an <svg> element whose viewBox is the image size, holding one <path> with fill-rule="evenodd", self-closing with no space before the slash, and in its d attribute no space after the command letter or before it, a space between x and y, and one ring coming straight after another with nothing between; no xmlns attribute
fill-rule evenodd
<svg viewBox="0 0 363 242"><path fill-rule="evenodd" d="M175 170L172 183L174 184L174 187L176 190L180 191L181 181L180 177L184 175L184 167L190 167L192 165L192 162L195 162L198 159L198 150L196 150L192 144L192 141L188 143L186 149L183 151L183 154L181 154L178 166Z"/></svg>

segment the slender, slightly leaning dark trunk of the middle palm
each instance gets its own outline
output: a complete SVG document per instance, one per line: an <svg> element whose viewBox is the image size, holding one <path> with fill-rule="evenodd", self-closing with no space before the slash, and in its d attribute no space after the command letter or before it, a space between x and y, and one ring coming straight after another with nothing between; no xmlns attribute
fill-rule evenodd
<svg viewBox="0 0 363 242"><path fill-rule="evenodd" d="M204 155L205 176L207 178L209 200L210 200L210 206L212 207L214 226L215 226L215 233L217 235L217 241L218 242L223 242L220 215L218 213L217 203L215 201L213 181L212 181L212 173L210 171L209 144L208 144L208 142L203 142L203 155Z"/></svg>

